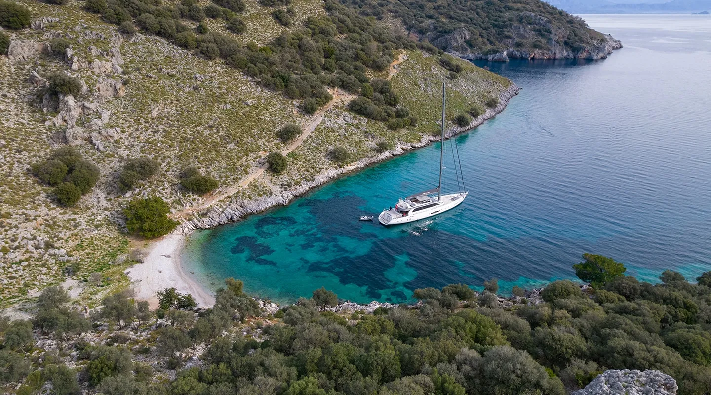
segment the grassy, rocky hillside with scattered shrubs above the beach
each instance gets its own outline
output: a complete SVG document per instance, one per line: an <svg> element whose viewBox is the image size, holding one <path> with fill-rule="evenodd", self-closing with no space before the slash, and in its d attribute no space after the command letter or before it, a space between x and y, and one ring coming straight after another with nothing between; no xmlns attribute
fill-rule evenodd
<svg viewBox="0 0 711 395"><path fill-rule="evenodd" d="M31 15L27 27L2 31L1 305L65 280L84 284L75 290L90 305L127 286L123 271L146 245L127 233L129 202L156 196L177 220L235 200L263 210L293 198L284 191L426 144L442 79L450 79L449 117L475 108L471 125L516 92L337 4L234 3L220 4L237 11L207 1L17 3ZM363 94L368 104L349 110ZM301 135L279 139L287 124ZM334 151L345 154L336 160ZM270 152L287 155L287 170L265 171ZM137 163L150 171L128 171ZM219 188L187 190L181 173L190 166ZM64 173L53 180L56 170ZM85 283L92 274L102 287Z"/></svg>

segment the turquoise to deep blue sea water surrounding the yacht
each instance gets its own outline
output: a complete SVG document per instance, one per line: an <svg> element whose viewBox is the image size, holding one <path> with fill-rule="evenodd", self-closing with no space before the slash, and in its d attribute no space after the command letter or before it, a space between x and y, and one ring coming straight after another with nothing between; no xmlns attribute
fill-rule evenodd
<svg viewBox="0 0 711 395"><path fill-rule="evenodd" d="M436 185L434 144L197 232L186 269L210 288L232 276L282 302L321 286L399 302L493 277L506 292L574 278L584 252L652 281L711 270L711 18L584 18L626 47L598 62L479 64L523 90L456 139L471 192L455 210L405 227L357 220ZM456 189L447 154L445 188Z"/></svg>

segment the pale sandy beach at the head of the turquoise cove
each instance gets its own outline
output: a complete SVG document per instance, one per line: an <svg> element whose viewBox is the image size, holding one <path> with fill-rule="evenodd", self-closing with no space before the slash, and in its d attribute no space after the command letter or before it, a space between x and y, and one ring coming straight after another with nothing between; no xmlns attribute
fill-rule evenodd
<svg viewBox="0 0 711 395"><path fill-rule="evenodd" d="M193 281L183 271L180 254L186 236L168 234L151 245L143 263L126 269L136 298L149 301L151 308L158 307L156 292L174 287L178 292L190 293L198 306L209 307L215 304L215 297Z"/></svg>

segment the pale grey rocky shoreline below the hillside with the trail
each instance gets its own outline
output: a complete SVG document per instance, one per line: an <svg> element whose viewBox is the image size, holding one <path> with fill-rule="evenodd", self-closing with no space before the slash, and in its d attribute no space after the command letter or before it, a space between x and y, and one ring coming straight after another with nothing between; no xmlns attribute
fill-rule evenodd
<svg viewBox="0 0 711 395"><path fill-rule="evenodd" d="M484 121L493 118L499 112L502 112L508 104L508 100L518 94L519 88L511 83L511 86L503 91L498 99L499 104L493 109L486 109L484 114L477 117L471 121L469 126L465 127L454 127L445 133L447 138L460 134L464 131L474 129L476 126L483 124ZM290 201L294 200L299 195L303 195L312 188L316 188L319 185L323 185L334 178L349 173L351 171L356 171L360 168L365 168L367 166L373 165L375 163L385 161L387 158L391 158L395 155L400 155L415 148L421 148L427 146L427 144L432 143L439 139L439 136L423 136L422 140L414 144L397 144L394 149L390 151L385 151L376 156L371 156L369 158L364 158L356 163L343 168L332 168L324 171L323 173L316 176L316 178L308 183L302 183L297 188L292 190L283 190L281 195L269 195L263 198L257 198L252 200L242 200L241 198L230 200L222 206L213 207L209 212L203 213L201 217L194 218L193 220L188 220L183 222L178 228L173 231L174 233L189 234L193 232L194 229L210 229L217 227L221 224L228 224L230 222L236 222L242 219L246 215L255 214L257 212L262 212L277 205L287 205Z"/></svg>

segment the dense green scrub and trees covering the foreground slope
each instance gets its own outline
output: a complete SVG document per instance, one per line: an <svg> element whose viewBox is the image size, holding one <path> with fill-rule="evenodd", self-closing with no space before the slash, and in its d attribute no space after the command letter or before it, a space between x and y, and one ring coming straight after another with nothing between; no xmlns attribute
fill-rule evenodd
<svg viewBox="0 0 711 395"><path fill-rule="evenodd" d="M587 254L595 286L550 283L530 299L463 284L415 290L419 305L338 313L324 288L267 312L225 281L213 308L169 288L150 310L130 293L88 318L52 287L30 321L0 320L0 385L18 394L565 394L605 369L658 369L679 394L711 384L711 272L688 283L624 276ZM518 293L518 292L517 292Z"/></svg>

